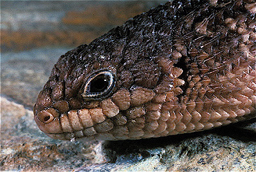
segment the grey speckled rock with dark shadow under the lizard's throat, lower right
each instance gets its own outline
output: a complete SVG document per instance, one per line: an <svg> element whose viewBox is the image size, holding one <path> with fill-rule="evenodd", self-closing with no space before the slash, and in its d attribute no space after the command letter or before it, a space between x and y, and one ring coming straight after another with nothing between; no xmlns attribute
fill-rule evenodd
<svg viewBox="0 0 256 172"><path fill-rule="evenodd" d="M93 164L78 171L255 171L254 138L239 140L243 132L220 136L221 129L212 133L109 142L105 151L112 152L114 163Z"/></svg>

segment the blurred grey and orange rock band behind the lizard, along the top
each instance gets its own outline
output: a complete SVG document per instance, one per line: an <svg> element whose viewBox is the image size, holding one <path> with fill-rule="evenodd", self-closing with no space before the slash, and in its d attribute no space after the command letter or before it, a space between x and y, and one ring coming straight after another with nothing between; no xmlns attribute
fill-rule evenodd
<svg viewBox="0 0 256 172"><path fill-rule="evenodd" d="M1 52L77 47L164 1L2 1Z"/></svg>

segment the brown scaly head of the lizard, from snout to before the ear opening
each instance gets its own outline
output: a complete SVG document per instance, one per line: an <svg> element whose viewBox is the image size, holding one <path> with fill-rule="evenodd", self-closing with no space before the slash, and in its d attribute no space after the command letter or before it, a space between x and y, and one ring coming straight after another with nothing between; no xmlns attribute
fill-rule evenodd
<svg viewBox="0 0 256 172"><path fill-rule="evenodd" d="M170 72L169 62L163 56L148 58L144 52L124 50L120 41L102 52L94 44L104 42L96 39L60 57L34 107L44 133L61 140L138 139L145 134L146 121L159 118L167 97L163 92L179 85L164 72Z"/></svg>

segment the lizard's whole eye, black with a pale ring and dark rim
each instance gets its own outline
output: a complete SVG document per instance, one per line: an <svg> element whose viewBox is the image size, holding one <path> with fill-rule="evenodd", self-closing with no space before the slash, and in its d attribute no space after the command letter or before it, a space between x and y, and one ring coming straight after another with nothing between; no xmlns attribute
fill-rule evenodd
<svg viewBox="0 0 256 172"><path fill-rule="evenodd" d="M89 76L84 85L84 99L104 99L109 96L115 86L115 78L111 71L97 71Z"/></svg>

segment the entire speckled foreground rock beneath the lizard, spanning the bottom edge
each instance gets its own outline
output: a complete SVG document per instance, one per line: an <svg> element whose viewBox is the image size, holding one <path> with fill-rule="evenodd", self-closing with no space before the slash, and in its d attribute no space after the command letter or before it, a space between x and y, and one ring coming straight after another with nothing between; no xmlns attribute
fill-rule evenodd
<svg viewBox="0 0 256 172"><path fill-rule="evenodd" d="M237 124L148 140L52 140L33 111L1 97L1 171L255 171L254 134Z"/></svg>

